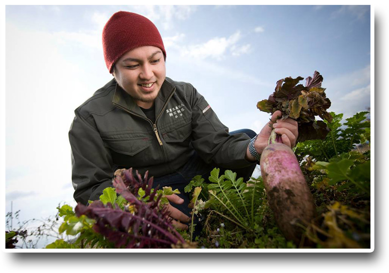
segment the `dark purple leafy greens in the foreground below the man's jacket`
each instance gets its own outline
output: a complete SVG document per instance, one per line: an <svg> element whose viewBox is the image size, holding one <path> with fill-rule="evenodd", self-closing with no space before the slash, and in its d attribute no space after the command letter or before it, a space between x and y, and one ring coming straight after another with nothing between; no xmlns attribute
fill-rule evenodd
<svg viewBox="0 0 389 273"><path fill-rule="evenodd" d="M162 195L156 197L157 189L152 190L153 178L141 178L132 168L115 172L113 186L128 203L122 210L117 204L104 205L100 200L85 206L75 207L78 217L86 215L96 223L93 229L115 243L116 248L170 248L186 245L187 242L177 232L168 216L167 207L160 206ZM138 192L142 189L144 195Z"/></svg>

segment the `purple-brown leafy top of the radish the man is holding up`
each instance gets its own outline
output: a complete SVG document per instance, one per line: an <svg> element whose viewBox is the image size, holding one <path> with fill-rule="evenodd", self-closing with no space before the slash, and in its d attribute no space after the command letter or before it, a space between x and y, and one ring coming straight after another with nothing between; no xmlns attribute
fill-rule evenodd
<svg viewBox="0 0 389 273"><path fill-rule="evenodd" d="M332 121L332 116L327 112L331 101L326 98L325 88L321 87L323 77L315 71L313 77L306 78L305 86L298 84L302 79L301 76L280 79L275 91L267 100L259 101L257 108L267 113L281 110L282 119L295 119L299 123L297 142L324 139L330 129L325 122L315 121L315 116Z"/></svg>

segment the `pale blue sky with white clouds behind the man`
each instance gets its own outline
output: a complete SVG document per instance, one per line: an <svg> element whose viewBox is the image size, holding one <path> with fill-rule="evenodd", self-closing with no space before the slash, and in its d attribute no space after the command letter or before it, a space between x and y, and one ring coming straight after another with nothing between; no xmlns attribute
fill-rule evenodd
<svg viewBox="0 0 389 273"><path fill-rule="evenodd" d="M277 80L315 70L329 110L370 107L370 6L6 6L6 212L11 200L22 219L75 205L68 130L112 78L101 32L119 10L156 24L167 76L192 83L230 130L259 132L269 115L256 103Z"/></svg>

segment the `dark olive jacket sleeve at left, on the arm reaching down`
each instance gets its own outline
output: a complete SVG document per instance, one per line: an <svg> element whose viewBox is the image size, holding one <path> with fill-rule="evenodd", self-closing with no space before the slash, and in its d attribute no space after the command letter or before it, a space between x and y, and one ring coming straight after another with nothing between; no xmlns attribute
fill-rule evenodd
<svg viewBox="0 0 389 273"><path fill-rule="evenodd" d="M98 200L106 187L112 187L114 165L94 122L86 121L77 110L74 112L69 131L73 197L87 204L88 200Z"/></svg>

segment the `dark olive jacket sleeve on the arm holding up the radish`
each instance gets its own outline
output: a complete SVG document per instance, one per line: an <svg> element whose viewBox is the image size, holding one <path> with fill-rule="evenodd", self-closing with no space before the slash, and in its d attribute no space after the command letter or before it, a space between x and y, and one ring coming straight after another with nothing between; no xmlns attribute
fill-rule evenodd
<svg viewBox="0 0 389 273"><path fill-rule="evenodd" d="M229 134L208 102L194 88L192 97L192 145L208 164L224 168L252 165L245 158L250 138L245 133Z"/></svg>

